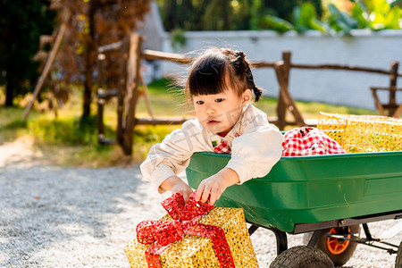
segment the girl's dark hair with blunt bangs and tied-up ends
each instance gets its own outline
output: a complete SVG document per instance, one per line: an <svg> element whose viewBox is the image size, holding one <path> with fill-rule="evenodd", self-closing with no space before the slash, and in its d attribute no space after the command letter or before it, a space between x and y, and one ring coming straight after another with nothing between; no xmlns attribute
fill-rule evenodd
<svg viewBox="0 0 402 268"><path fill-rule="evenodd" d="M247 88L251 89L257 102L263 90L255 86L250 65L241 51L226 48L208 49L191 65L186 83L186 95L218 94L230 86L239 96Z"/></svg>

